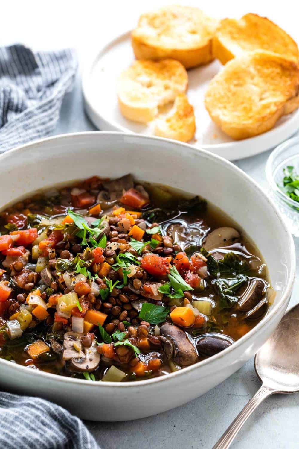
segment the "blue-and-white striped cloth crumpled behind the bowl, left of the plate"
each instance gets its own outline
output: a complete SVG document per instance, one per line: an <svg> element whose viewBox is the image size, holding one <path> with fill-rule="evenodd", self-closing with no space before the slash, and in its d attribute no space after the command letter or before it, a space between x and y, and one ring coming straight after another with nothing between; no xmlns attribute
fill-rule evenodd
<svg viewBox="0 0 299 449"><path fill-rule="evenodd" d="M70 49L33 53L20 44L0 48L0 153L54 130L76 69Z"/></svg>

